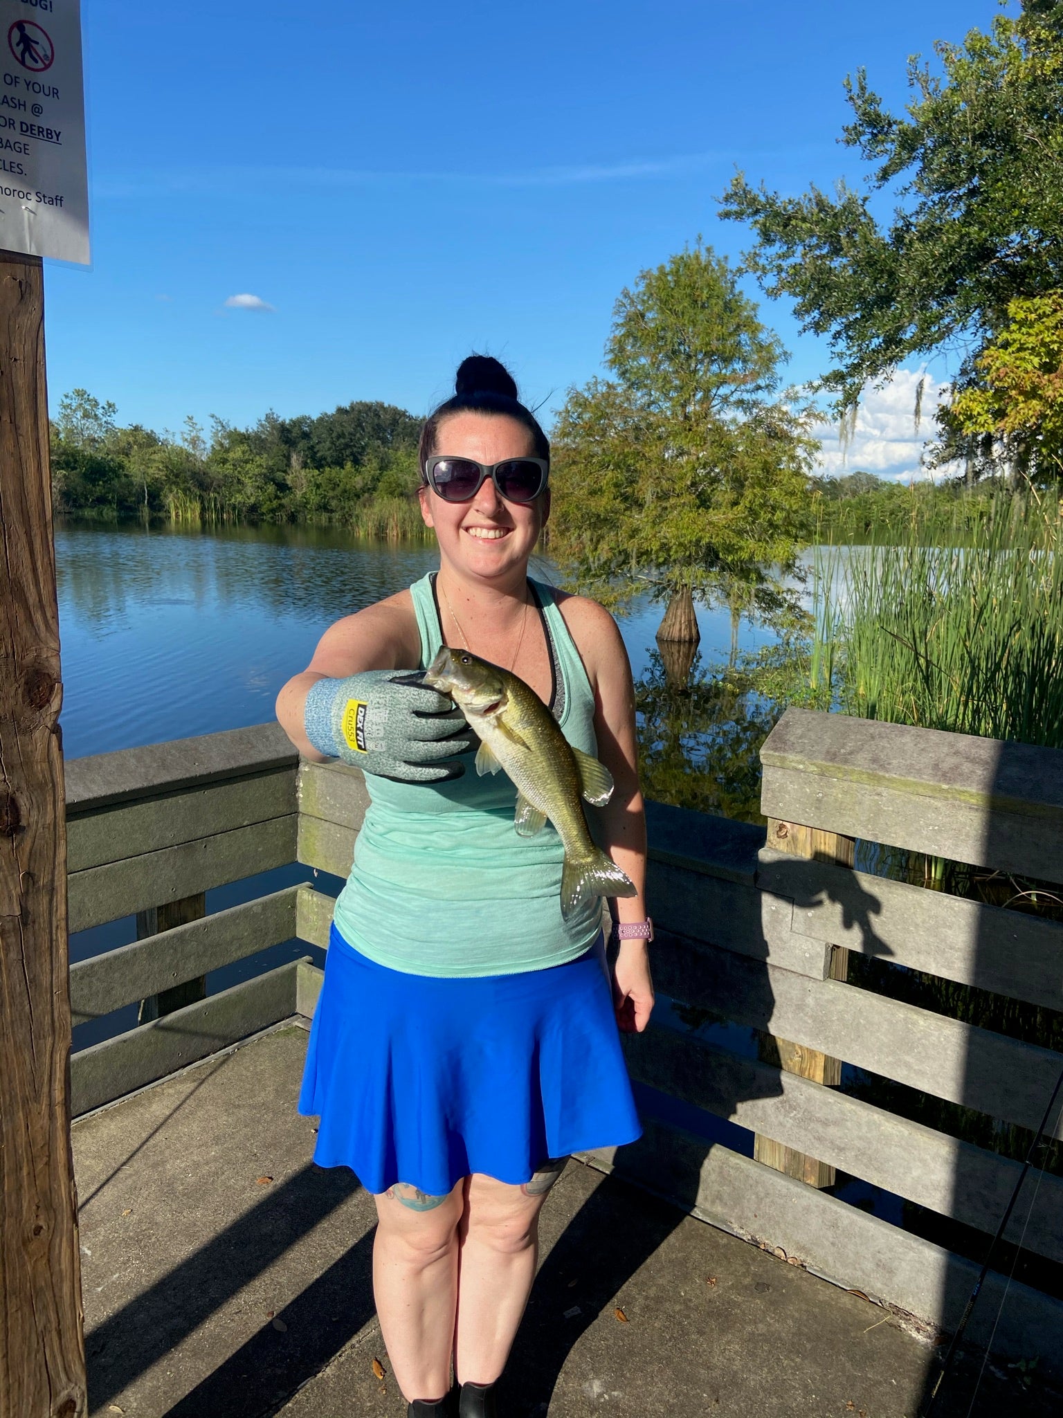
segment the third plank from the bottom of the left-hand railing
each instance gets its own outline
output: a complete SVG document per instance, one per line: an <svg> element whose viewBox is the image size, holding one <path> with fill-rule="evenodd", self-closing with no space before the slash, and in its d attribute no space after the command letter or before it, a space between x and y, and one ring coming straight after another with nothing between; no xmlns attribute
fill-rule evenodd
<svg viewBox="0 0 1063 1418"><path fill-rule="evenodd" d="M194 892L254 876L295 861L296 817L276 817L122 862L89 866L68 879L69 929L132 916Z"/></svg>

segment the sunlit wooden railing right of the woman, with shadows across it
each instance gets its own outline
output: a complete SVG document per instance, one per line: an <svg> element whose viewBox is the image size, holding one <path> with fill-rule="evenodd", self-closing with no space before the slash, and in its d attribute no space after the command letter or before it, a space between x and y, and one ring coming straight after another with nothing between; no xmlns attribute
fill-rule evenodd
<svg viewBox="0 0 1063 1418"><path fill-rule="evenodd" d="M832 978L832 966L839 949L859 951L1060 1010L1063 926L802 859L772 841L811 828L1059 882L1063 753L791 709L761 759L767 844L733 824L710 831L694 814L652 813L649 898L670 936L655 946L658 988L761 1037L1037 1129L1063 1056ZM629 1039L635 1078L974 1227L988 1246L1019 1161L680 1028L656 1024ZM1050 1133L1063 1136L1059 1110ZM975 1262L940 1245L660 1124L649 1124L643 1143L595 1160L944 1329L978 1275ZM1063 1261L1059 1177L1028 1178L1005 1239ZM989 1275L972 1341L989 1339L1005 1288L1002 1275ZM1063 1303L1012 1282L994 1347L1059 1367Z"/></svg>

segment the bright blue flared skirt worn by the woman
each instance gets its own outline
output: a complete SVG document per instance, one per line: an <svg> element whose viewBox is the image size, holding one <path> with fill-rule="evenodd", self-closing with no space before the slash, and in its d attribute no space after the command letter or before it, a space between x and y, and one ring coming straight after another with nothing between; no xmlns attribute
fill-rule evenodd
<svg viewBox="0 0 1063 1418"><path fill-rule="evenodd" d="M438 977L390 970L336 926L299 1112L313 1160L366 1191L442 1195L473 1171L530 1181L547 1157L641 1136L601 940L568 964Z"/></svg>

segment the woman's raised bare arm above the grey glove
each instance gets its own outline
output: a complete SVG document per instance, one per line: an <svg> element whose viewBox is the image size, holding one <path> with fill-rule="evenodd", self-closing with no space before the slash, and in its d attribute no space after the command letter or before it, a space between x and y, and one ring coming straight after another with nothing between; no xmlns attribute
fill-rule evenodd
<svg viewBox="0 0 1063 1418"><path fill-rule="evenodd" d="M276 696L276 718L299 753L325 763L303 729L306 693L319 679L343 679L361 669L415 669L421 657L417 617L410 591L390 596L364 611L344 615L317 641L313 659Z"/></svg>

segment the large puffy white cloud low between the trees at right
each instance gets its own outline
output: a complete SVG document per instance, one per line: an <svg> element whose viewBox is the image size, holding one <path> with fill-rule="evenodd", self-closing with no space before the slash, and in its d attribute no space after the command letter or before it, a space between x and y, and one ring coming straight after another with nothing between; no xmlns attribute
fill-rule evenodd
<svg viewBox="0 0 1063 1418"><path fill-rule="evenodd" d="M916 428L916 393L923 384L923 404ZM877 474L890 482L910 478L941 478L958 472L945 467L923 467L923 452L934 435L934 410L948 397L948 384L921 369L899 369L882 389L865 390L856 411L856 427L848 447L842 448L836 424L815 430L822 442L819 471L839 478L848 472Z"/></svg>

